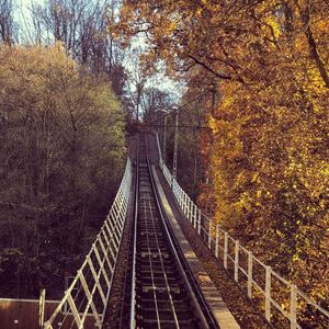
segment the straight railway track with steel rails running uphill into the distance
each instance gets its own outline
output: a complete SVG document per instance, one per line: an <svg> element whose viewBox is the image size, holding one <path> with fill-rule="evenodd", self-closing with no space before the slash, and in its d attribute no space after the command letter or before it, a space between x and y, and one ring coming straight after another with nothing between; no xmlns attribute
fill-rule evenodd
<svg viewBox="0 0 329 329"><path fill-rule="evenodd" d="M161 208L139 136L135 218L118 328L218 328Z"/></svg>

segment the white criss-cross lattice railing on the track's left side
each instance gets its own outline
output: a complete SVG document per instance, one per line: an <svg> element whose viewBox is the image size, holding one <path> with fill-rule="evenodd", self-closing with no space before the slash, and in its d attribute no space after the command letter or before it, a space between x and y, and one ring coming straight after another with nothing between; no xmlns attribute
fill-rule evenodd
<svg viewBox="0 0 329 329"><path fill-rule="evenodd" d="M82 329L90 310L95 326L102 327L123 236L131 185L132 163L128 158L111 211L72 283L53 315L44 322L44 329L65 326L66 321ZM65 313L61 311L64 305L68 306Z"/></svg>

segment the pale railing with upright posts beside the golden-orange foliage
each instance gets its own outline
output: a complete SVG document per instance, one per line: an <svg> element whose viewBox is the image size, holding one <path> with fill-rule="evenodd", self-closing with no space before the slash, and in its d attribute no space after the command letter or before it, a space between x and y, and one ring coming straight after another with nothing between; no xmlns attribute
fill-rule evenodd
<svg viewBox="0 0 329 329"><path fill-rule="evenodd" d="M218 225L215 225L212 218L208 218L202 211L196 206L196 204L190 198L190 196L183 191L178 181L172 177L171 172L167 168L163 160L159 159L159 166L166 178L168 184L170 185L172 193L185 215L186 219L191 222L194 229L200 235L203 242L211 249L212 253L217 258L223 259L224 268L234 274L235 281L246 288L248 297L252 299L254 290L258 294L263 295L264 299L264 308L263 311L265 314L266 320L271 324L273 322L273 314L271 311L272 307L275 307L284 318L290 321L291 329L299 329L302 328L298 324L298 303L299 299L303 299L303 303L306 305L313 306L320 317L327 321L327 326L329 328L329 311L324 309L321 306L316 304L309 297L307 297L300 290L296 287L296 285L290 283L287 280L282 277L280 274L275 273L271 266L268 266L263 262L261 262L258 258L256 258L251 251L248 251L245 247L240 246L239 241L234 239L226 230L220 228ZM219 241L224 241L224 246L219 245ZM229 254L229 246L232 246L234 254ZM223 253L219 253L219 249L223 250ZM243 269L241 263L239 262L240 252L245 252L247 256L247 269ZM254 271L254 266L260 265L263 269L264 277L262 277L263 282L257 281L259 275L257 275ZM231 271L232 269L232 271ZM245 277L240 277L240 275ZM277 303L274 300L273 294L273 280L272 276L275 276L276 280L281 282L281 284L285 285L287 290L290 290L290 309L284 309L282 306L283 303ZM246 285L247 281L247 285Z"/></svg>

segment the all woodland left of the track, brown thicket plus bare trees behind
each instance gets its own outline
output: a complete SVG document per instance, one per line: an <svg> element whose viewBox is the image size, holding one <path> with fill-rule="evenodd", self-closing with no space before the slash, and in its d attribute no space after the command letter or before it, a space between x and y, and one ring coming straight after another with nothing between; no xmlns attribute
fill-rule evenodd
<svg viewBox="0 0 329 329"><path fill-rule="evenodd" d="M111 49L109 38L98 36L105 29L104 12L87 3L33 7L29 32L38 39L25 43L14 3L1 1L2 297L38 297L43 287L48 297L61 295L124 169L124 72L114 45Z"/></svg>

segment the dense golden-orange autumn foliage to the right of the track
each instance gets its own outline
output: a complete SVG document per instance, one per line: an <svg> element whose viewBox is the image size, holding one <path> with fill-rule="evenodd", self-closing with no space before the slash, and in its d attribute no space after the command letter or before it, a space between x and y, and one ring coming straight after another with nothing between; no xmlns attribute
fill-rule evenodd
<svg viewBox="0 0 329 329"><path fill-rule="evenodd" d="M328 306L327 1L124 1L121 29L204 102L216 220ZM208 141L207 141L208 140ZM201 200L209 195L209 186Z"/></svg>

